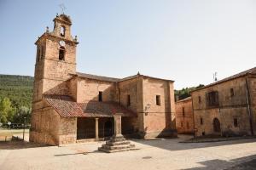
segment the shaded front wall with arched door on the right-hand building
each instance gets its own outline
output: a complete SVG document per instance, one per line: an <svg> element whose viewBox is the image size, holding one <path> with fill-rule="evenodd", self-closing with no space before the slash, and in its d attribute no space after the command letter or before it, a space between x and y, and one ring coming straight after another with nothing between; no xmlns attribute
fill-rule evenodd
<svg viewBox="0 0 256 170"><path fill-rule="evenodd" d="M230 88L234 89L234 96L231 95ZM218 91L219 105L209 107L207 106L207 93L212 91ZM201 96L201 102L199 96ZM250 134L246 79L244 77L195 91L192 93L192 100L195 129L197 129L196 136L201 136L203 133L206 135L216 134L213 131L214 118L218 118L221 127L221 132L217 134ZM237 119L237 127L235 127L234 119Z"/></svg>

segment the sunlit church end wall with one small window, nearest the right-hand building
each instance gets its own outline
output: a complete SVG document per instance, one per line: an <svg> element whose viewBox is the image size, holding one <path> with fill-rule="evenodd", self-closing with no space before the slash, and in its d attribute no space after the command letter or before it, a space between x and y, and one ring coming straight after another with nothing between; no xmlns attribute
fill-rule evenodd
<svg viewBox="0 0 256 170"><path fill-rule="evenodd" d="M160 95L160 105L156 105L156 95ZM143 79L143 106L150 105L148 111L144 111L145 138L166 136L166 130L169 131L169 135L173 135L175 105L174 95L172 95L172 82L152 78ZM172 133L171 130L173 130Z"/></svg>

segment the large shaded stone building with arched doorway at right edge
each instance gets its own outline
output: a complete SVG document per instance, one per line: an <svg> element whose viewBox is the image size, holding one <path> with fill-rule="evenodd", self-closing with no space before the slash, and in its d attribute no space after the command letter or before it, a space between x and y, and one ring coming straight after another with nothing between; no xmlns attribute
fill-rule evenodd
<svg viewBox="0 0 256 170"><path fill-rule="evenodd" d="M252 135L256 129L256 67L191 93L195 134Z"/></svg>

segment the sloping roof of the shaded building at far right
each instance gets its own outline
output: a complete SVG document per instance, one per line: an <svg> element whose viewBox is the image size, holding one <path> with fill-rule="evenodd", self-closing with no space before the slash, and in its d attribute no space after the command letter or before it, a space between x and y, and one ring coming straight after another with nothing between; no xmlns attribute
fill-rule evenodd
<svg viewBox="0 0 256 170"><path fill-rule="evenodd" d="M220 84L220 83L222 83L222 82L227 82L227 81L230 81L230 80L239 78L239 77L245 77L245 76L247 76L248 74L256 74L256 67L253 67L252 69L249 69L249 70L247 70L247 71L242 71L242 72L240 72L240 73L238 73L238 74L236 74L236 75L233 75L233 76L231 76L231 77L226 77L226 78L224 78L224 79L222 79L222 80L219 80L218 82L212 82L211 84L208 84L207 86L204 86L204 87L202 87L202 88L197 88L197 89L191 91L191 93L193 93L193 92L195 92L195 91L198 91L198 90L201 90L201 89L203 89L203 88L208 88L208 87L214 86L214 85L216 85L216 84Z"/></svg>

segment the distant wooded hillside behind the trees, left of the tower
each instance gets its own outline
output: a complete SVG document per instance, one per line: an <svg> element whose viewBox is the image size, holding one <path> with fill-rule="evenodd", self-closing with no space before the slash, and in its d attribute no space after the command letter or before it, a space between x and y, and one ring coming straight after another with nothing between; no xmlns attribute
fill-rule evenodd
<svg viewBox="0 0 256 170"><path fill-rule="evenodd" d="M0 75L0 99L9 98L12 106L32 106L33 77Z"/></svg>

